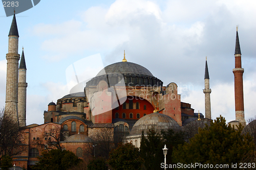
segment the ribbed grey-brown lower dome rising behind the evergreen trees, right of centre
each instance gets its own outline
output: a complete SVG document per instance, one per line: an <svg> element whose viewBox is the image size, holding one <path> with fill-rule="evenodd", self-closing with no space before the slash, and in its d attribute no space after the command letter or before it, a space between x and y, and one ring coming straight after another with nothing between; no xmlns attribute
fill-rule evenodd
<svg viewBox="0 0 256 170"><path fill-rule="evenodd" d="M181 130L179 124L170 116L161 113L151 113L141 117L133 126L130 135L141 135L147 133L148 129L154 128L157 132L173 129Z"/></svg>

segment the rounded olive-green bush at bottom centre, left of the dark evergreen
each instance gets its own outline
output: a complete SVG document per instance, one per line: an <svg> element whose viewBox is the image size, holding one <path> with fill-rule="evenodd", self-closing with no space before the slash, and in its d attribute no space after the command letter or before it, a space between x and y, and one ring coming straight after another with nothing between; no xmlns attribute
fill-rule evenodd
<svg viewBox="0 0 256 170"><path fill-rule="evenodd" d="M140 169L144 160L140 157L138 148L132 143L120 143L118 147L110 152L108 164L114 170L137 170Z"/></svg>

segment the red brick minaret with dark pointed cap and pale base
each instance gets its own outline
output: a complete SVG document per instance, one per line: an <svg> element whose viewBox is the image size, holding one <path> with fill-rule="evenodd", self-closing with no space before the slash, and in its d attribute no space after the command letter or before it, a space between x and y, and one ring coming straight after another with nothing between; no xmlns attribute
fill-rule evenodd
<svg viewBox="0 0 256 170"><path fill-rule="evenodd" d="M241 63L241 50L238 38L238 28L237 28L237 39L236 39L236 50L234 51L235 58L235 68L233 69L234 74L234 101L236 105L236 120L239 123L245 124L244 119L244 90L243 90L243 73L244 68L242 68Z"/></svg>

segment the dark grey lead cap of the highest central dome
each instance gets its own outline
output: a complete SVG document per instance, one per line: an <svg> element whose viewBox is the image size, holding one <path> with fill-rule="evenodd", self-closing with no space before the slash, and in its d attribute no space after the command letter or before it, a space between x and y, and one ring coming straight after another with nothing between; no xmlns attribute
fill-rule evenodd
<svg viewBox="0 0 256 170"><path fill-rule="evenodd" d="M111 65L106 66L102 70L99 71L97 76L103 76L103 75L111 75L111 74L131 74L133 76L150 76L153 77L152 73L146 69L145 67L131 63L131 62L118 62ZM96 77L97 77L96 76Z"/></svg>

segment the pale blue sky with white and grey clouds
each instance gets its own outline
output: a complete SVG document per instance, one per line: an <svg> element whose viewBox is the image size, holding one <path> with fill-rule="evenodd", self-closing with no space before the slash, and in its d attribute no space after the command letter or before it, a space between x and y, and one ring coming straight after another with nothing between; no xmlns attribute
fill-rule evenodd
<svg viewBox="0 0 256 170"><path fill-rule="evenodd" d="M255 116L256 1L116 0L40 1L16 14L19 50L27 65L27 125L43 124L50 102L70 93L67 68L97 75L99 67L140 64L164 82L175 82L181 101L204 114L205 58L211 116L234 120L234 47L238 26L244 68L245 119ZM0 8L0 107L5 106L6 54L12 16ZM254 47L253 47L254 46ZM253 50L254 49L254 50ZM80 62L83 61L83 62ZM80 72L80 73L78 73ZM67 82L68 80L68 82Z"/></svg>

